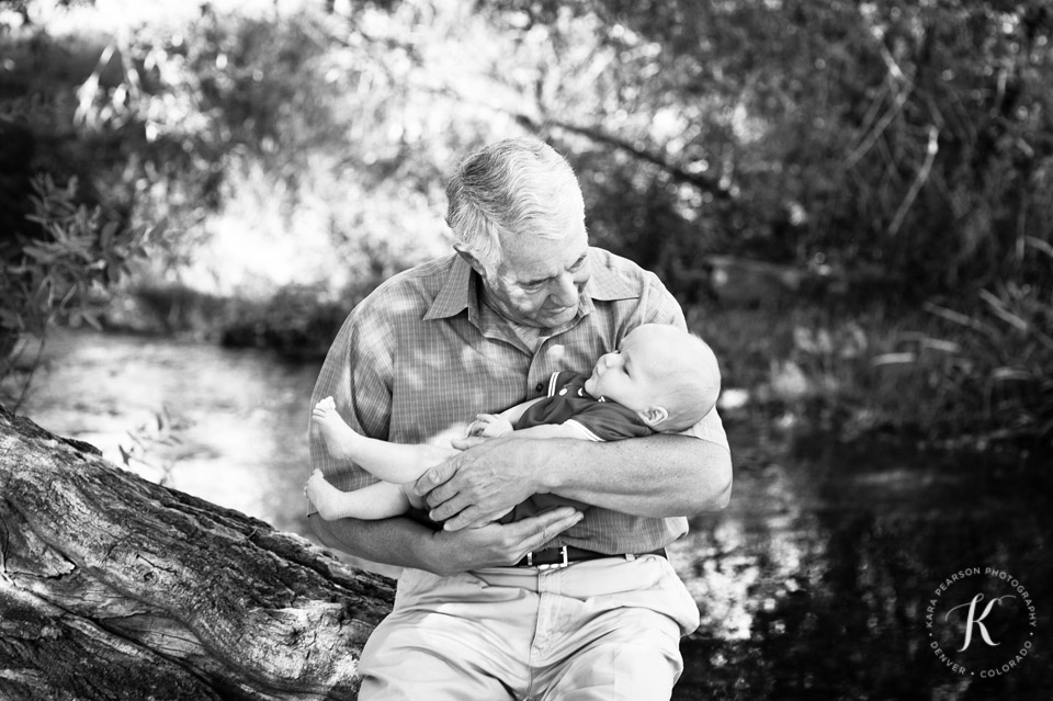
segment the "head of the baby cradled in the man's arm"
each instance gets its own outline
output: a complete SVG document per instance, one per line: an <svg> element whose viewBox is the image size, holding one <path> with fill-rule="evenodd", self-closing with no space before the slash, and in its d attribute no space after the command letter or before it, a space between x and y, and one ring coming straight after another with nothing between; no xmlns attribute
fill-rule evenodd
<svg viewBox="0 0 1053 701"><path fill-rule="evenodd" d="M721 392L716 357L698 336L665 324L638 326L597 361L585 391L635 411L656 431L682 431Z"/></svg>

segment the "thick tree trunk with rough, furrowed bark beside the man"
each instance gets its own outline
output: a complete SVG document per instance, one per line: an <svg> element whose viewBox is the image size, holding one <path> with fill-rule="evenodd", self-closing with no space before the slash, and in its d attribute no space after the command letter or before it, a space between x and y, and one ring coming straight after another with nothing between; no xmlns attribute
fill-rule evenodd
<svg viewBox="0 0 1053 701"><path fill-rule="evenodd" d="M0 699L354 699L393 598L0 406Z"/></svg>

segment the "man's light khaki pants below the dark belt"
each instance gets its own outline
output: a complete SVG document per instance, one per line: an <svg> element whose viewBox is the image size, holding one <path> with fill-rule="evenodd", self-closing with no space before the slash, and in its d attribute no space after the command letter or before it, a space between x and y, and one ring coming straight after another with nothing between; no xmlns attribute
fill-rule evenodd
<svg viewBox="0 0 1053 701"><path fill-rule="evenodd" d="M669 562L451 577L406 569L362 652L361 701L669 699L699 611Z"/></svg>

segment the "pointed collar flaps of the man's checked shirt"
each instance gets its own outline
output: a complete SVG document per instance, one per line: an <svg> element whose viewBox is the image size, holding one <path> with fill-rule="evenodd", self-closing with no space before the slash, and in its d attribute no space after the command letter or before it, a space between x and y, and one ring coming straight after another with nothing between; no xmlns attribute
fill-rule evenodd
<svg viewBox="0 0 1053 701"><path fill-rule="evenodd" d="M581 294L581 309L578 313L578 318L592 312L593 301L613 302L615 299L639 297L639 290L604 265L601 257L597 256L595 250L589 249L592 274L589 276L589 282L586 283L585 292ZM435 301L432 302L431 307L424 315L426 321L454 317L465 309L468 310L469 320L479 317L478 285L482 284L479 276L474 273L472 267L461 256L454 253L453 259L453 264L450 265L446 279L439 290Z"/></svg>

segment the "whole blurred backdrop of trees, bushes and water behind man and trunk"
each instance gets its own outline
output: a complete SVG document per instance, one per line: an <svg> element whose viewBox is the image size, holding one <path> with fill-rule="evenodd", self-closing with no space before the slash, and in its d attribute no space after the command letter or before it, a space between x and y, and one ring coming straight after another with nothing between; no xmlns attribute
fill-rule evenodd
<svg viewBox="0 0 1053 701"><path fill-rule="evenodd" d="M966 566L1053 592L1051 42L1045 0L2 0L0 402L309 536L337 328L532 134L722 362L676 698L1046 699L1044 646L963 677L924 618Z"/></svg>

